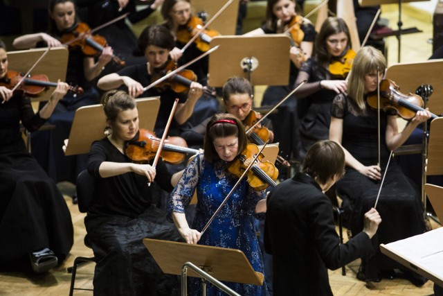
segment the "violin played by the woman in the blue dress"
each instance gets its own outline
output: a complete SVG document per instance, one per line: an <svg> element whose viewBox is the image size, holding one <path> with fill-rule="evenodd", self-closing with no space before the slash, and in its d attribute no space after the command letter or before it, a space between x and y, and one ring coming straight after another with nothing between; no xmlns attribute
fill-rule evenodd
<svg viewBox="0 0 443 296"><path fill-rule="evenodd" d="M248 144L242 153L230 162L228 172L236 177L241 177L259 151L257 145ZM264 190L268 186L277 186L275 180L278 177L278 168L275 168L271 162L264 162L262 159L263 155L259 155L257 162L251 167L251 171L248 171L248 184L257 191Z"/></svg>

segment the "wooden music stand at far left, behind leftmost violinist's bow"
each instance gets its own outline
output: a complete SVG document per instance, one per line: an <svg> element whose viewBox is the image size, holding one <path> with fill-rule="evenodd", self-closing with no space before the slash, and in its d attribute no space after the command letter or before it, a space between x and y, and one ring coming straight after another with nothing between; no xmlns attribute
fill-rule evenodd
<svg viewBox="0 0 443 296"><path fill-rule="evenodd" d="M9 51L9 68L14 71L19 71L24 75L45 51L46 48L29 49L26 51ZM51 48L30 74L45 74L51 82L57 82L58 79L65 81L66 68L68 67L68 55L69 51L64 47ZM51 94L52 92L44 92L42 96L31 98L31 101L49 101Z"/></svg>

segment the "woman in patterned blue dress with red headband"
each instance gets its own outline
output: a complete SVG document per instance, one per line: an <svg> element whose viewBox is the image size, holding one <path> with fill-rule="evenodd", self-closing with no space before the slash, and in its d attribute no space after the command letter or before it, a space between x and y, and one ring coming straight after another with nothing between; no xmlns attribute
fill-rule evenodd
<svg viewBox="0 0 443 296"><path fill-rule="evenodd" d="M181 236L187 243L228 247L244 252L257 272L263 272L263 261L255 235L254 216L264 218L266 198L263 191L255 191L246 180L237 187L228 202L215 216L204 234L208 220L235 185L238 178L226 167L246 148L246 134L242 123L231 114L215 114L208 123L204 154L197 155L172 191L168 216L172 216ZM186 221L184 208L197 190L197 208L192 228ZM264 286L224 283L240 295L264 295ZM201 280L191 279L192 295L201 295ZM215 286L208 286L207 295L222 295Z"/></svg>

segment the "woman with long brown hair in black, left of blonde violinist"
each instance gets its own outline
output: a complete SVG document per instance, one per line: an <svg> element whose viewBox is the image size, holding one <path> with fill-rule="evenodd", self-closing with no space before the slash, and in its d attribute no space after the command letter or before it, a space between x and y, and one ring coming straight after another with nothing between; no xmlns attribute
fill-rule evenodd
<svg viewBox="0 0 443 296"><path fill-rule="evenodd" d="M309 105L307 110L301 113L303 114L300 122L302 158L313 143L329 137L332 100L336 94L346 91L345 76L333 78L329 72L329 65L351 50L350 40L349 29L343 19L327 18L316 37L314 57L307 60L300 68L296 85L304 80L307 80L307 83L300 87L296 96L307 99L306 103Z"/></svg>

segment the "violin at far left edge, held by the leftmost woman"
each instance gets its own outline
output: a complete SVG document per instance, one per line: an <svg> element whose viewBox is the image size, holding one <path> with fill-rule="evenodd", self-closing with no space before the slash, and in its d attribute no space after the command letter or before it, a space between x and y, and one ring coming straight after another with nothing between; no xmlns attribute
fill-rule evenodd
<svg viewBox="0 0 443 296"><path fill-rule="evenodd" d="M23 79L23 75L19 71L8 70L5 78L0 81L0 86L13 89L17 83ZM17 91L24 92L28 96L37 97L46 92L48 87L57 87L57 82L50 82L48 76L37 74L24 78ZM73 94L83 94L82 87L74 87L69 85L69 92Z"/></svg>

